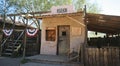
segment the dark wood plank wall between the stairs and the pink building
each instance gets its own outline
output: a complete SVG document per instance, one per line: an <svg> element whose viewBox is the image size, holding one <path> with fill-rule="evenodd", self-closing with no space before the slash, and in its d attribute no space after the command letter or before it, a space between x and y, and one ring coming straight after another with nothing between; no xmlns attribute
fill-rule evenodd
<svg viewBox="0 0 120 66"><path fill-rule="evenodd" d="M27 37L26 56L40 54L41 31L35 37Z"/></svg>

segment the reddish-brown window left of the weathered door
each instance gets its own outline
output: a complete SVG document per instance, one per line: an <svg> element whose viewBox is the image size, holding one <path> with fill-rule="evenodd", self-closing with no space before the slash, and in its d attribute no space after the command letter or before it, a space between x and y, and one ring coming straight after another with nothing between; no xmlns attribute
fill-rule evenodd
<svg viewBox="0 0 120 66"><path fill-rule="evenodd" d="M55 41L55 30L46 30L46 41Z"/></svg>

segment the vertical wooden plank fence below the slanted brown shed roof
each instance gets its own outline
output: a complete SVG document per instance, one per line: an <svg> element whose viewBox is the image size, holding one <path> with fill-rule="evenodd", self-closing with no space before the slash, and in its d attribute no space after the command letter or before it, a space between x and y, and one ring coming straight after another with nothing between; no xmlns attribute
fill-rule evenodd
<svg viewBox="0 0 120 66"><path fill-rule="evenodd" d="M85 66L120 66L120 48L86 48Z"/></svg>

